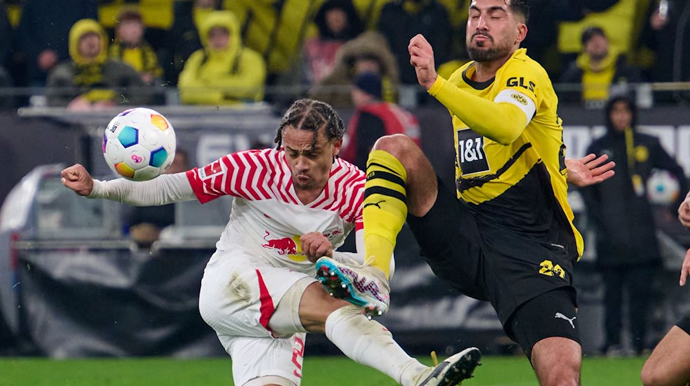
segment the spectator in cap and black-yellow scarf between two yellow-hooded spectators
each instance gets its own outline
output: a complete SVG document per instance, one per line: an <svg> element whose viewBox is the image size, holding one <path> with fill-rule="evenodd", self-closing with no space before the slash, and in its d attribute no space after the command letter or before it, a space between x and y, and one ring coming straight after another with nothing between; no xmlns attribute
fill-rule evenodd
<svg viewBox="0 0 690 386"><path fill-rule="evenodd" d="M108 57L132 66L146 85L160 83L163 76L155 50L144 39L144 19L136 8L124 8L115 24L115 41L110 44Z"/></svg>

